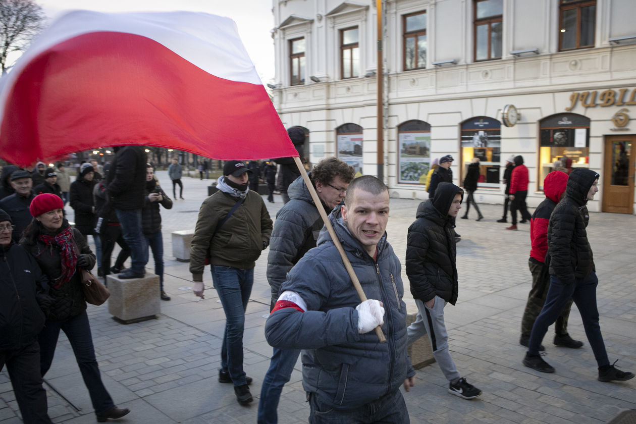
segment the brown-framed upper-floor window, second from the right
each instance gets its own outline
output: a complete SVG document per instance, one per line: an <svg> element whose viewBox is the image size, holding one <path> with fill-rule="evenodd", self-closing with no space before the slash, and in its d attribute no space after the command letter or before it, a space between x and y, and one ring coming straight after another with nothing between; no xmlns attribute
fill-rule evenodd
<svg viewBox="0 0 636 424"><path fill-rule="evenodd" d="M474 0L474 60L501 59L503 0Z"/></svg>

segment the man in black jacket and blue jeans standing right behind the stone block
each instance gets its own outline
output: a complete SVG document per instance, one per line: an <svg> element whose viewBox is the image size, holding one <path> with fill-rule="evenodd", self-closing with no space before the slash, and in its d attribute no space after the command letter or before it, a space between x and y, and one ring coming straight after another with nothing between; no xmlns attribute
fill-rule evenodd
<svg viewBox="0 0 636 424"><path fill-rule="evenodd" d="M159 296L162 300L170 300L163 291L163 238L161 234L161 214L159 205L172 209L172 200L165 194L155 179L153 167L146 167L146 202L141 210L142 231L146 238L146 249L153 251L155 274L159 276Z"/></svg>

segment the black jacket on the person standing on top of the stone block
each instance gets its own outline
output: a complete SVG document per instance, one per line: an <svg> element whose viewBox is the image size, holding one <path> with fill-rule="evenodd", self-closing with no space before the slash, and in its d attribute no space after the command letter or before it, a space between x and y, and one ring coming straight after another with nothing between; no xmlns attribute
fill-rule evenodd
<svg viewBox="0 0 636 424"><path fill-rule="evenodd" d="M133 210L144 207L146 195L146 153L141 146L114 148L117 154L106 180L114 209Z"/></svg>

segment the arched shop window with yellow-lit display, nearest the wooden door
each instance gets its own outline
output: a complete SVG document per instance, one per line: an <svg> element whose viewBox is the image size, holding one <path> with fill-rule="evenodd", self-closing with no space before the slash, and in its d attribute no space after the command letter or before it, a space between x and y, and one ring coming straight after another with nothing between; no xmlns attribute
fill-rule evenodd
<svg viewBox="0 0 636 424"><path fill-rule="evenodd" d="M576 113L560 113L539 121L539 189L543 190L543 179L553 170L556 160L572 168L589 168L590 118Z"/></svg>

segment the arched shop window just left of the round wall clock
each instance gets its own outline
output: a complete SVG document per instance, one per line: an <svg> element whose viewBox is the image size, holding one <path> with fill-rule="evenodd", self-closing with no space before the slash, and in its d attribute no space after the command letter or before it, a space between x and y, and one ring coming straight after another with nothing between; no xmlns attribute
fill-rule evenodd
<svg viewBox="0 0 636 424"><path fill-rule="evenodd" d="M488 116L476 116L462 123L462 174L466 176L468 165L479 158L480 176L477 187L499 188L501 165L501 122Z"/></svg>

